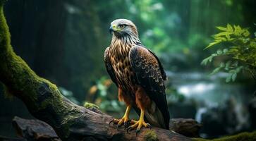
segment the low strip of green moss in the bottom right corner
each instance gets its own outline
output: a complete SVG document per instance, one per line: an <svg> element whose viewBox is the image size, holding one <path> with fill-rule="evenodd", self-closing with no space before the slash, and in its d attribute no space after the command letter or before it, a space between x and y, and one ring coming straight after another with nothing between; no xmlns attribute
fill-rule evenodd
<svg viewBox="0 0 256 141"><path fill-rule="evenodd" d="M213 140L206 140L202 138L193 138L194 141L255 141L256 140L256 131L252 133L239 133L237 135L231 135L226 137L221 137Z"/></svg>

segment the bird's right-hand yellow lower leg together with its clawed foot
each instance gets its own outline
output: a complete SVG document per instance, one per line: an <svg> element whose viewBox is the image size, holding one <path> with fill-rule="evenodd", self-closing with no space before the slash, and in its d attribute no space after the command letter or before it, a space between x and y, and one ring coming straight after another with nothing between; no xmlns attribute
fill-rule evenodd
<svg viewBox="0 0 256 141"><path fill-rule="evenodd" d="M134 128L136 129L136 135L137 133L140 131L140 128L142 128L142 126L144 126L145 128L151 128L151 125L149 123L145 123L144 121L144 114L145 114L145 109L140 109L140 119L139 121L133 121L132 124L127 128L127 133L129 132L129 130L133 130Z"/></svg>

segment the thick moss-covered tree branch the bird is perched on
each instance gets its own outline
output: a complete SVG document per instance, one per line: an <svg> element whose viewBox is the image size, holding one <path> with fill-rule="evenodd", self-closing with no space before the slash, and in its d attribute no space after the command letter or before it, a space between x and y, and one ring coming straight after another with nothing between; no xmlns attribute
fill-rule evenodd
<svg viewBox="0 0 256 141"><path fill-rule="evenodd" d="M6 92L21 99L30 114L51 125L61 140L190 140L173 131L153 127L136 136L109 126L113 117L73 104L56 85L37 76L11 47L10 33L0 0L0 81Z"/></svg>

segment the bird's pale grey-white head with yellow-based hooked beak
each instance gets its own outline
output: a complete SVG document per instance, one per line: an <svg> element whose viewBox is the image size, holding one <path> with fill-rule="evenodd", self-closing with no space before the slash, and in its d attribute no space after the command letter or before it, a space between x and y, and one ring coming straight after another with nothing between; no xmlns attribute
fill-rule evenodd
<svg viewBox="0 0 256 141"><path fill-rule="evenodd" d="M116 19L111 22L109 32L113 32L116 37L138 37L137 27L127 19Z"/></svg>

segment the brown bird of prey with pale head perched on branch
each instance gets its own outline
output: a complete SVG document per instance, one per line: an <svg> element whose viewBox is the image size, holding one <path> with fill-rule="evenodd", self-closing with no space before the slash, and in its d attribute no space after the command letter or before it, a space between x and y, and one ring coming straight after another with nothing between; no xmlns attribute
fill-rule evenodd
<svg viewBox="0 0 256 141"><path fill-rule="evenodd" d="M104 52L106 71L118 87L118 100L126 103L121 119L114 119L117 128L125 125L127 131L151 128L151 125L169 130L169 110L166 102L164 80L166 73L157 56L142 45L137 27L126 19L116 19L109 32L111 44ZM130 109L140 115L138 121L130 120ZM147 123L146 123L147 122Z"/></svg>

